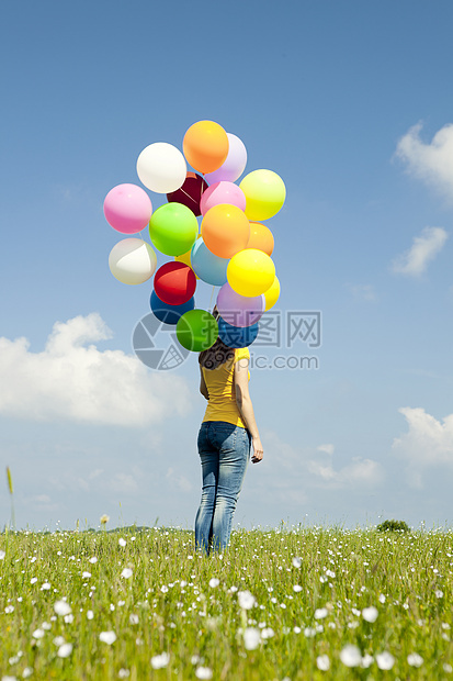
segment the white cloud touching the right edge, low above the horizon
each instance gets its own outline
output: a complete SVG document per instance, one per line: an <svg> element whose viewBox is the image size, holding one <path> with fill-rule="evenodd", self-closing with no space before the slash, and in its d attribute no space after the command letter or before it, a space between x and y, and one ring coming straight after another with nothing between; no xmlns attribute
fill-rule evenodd
<svg viewBox="0 0 453 681"><path fill-rule="evenodd" d="M424 409L404 406L398 410L406 418L408 432L394 439L393 449L408 459L415 471L412 482L417 484L417 472L435 465L453 465L453 414L438 421Z"/></svg>

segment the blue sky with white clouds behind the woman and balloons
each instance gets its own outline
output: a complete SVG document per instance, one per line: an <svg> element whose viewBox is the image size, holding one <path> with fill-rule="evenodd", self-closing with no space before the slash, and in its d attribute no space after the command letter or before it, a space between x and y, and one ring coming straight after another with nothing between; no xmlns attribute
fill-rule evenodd
<svg viewBox="0 0 453 681"><path fill-rule="evenodd" d="M278 310L322 315L321 347L291 348L317 370L252 371L264 460L236 521L451 524L452 20L418 0L2 7L0 464L18 525L192 526L196 357L137 364L151 287L110 273L102 203L139 183L145 146L182 148L205 119L242 139L246 172L284 179Z"/></svg>

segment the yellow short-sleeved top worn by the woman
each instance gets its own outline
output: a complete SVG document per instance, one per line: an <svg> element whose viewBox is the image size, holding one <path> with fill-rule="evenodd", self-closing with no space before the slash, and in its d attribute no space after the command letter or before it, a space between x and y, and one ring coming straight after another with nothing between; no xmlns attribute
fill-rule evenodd
<svg viewBox="0 0 453 681"><path fill-rule="evenodd" d="M206 421L226 421L241 428L246 427L236 404L234 380L235 364L246 358L250 361L249 348L237 348L235 349L234 359L225 361L216 369L205 369L202 367L204 381L209 395L203 423Z"/></svg>

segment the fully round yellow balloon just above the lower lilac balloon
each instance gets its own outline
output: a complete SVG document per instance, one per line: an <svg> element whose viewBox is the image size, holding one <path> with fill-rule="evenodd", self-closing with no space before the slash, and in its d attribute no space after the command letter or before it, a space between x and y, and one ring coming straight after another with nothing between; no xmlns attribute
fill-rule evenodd
<svg viewBox="0 0 453 681"><path fill-rule="evenodd" d="M228 283L239 295L253 298L261 295L275 279L275 265L272 259L258 248L239 250L227 267Z"/></svg>

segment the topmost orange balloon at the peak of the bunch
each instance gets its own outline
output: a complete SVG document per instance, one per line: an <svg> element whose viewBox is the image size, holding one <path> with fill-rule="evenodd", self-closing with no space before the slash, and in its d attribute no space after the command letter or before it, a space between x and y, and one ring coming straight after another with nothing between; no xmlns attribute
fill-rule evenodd
<svg viewBox="0 0 453 681"><path fill-rule="evenodd" d="M188 163L199 172L214 172L226 160L228 136L214 121L199 121L184 135L182 148Z"/></svg>

